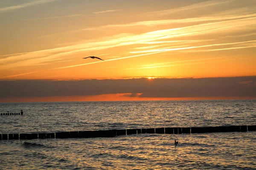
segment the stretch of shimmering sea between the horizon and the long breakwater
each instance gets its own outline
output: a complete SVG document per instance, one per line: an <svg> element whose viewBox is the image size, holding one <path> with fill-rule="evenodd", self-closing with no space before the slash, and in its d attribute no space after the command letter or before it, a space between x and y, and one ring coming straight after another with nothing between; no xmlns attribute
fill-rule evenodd
<svg viewBox="0 0 256 170"><path fill-rule="evenodd" d="M254 125L256 100L0 103L0 133Z"/></svg>

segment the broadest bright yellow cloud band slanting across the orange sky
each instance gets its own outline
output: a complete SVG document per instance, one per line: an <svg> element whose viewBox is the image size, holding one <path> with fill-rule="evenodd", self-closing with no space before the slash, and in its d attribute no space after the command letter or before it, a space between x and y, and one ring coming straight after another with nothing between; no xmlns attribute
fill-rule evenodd
<svg viewBox="0 0 256 170"><path fill-rule="evenodd" d="M157 43L170 43L168 39L178 38L178 37L189 37L198 36L203 34L212 34L224 31L230 34L232 31L241 31L247 29L249 25L253 25L256 17L242 18L236 20L226 20L214 23L198 24L193 26L172 28L158 31L151 31L144 34L118 34L111 37L105 37L94 42L84 42L70 46L64 46L60 48L52 48L41 51L29 52L26 54L21 54L19 56L12 55L3 59L0 59L0 64L3 65L0 69L13 68L19 66L29 66L38 63L42 60L58 59L62 57L68 57L74 54L79 54L83 52L103 50L108 48L114 48L126 45L140 45L140 44L157 44ZM176 41L176 40L175 40ZM194 42L207 41L207 40L193 40ZM208 40L209 41L209 40ZM174 41L173 41L174 42ZM178 42L178 41L176 41ZM190 40L182 40L180 42L187 43L192 42ZM182 45L182 44L180 44ZM219 44L224 45L224 44ZM171 48L171 49L152 49L154 52L159 51L177 51L177 50L187 50L192 48L200 47L211 47L216 45L206 45L206 46L189 46L183 48ZM132 51L134 53L138 51ZM151 53L150 51L139 51ZM24 62L24 61L27 62ZM12 63L12 64L9 64Z"/></svg>

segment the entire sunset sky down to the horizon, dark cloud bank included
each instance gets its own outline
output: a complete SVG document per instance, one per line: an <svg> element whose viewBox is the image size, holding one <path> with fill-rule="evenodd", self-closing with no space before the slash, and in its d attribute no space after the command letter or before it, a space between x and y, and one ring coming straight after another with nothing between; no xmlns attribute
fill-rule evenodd
<svg viewBox="0 0 256 170"><path fill-rule="evenodd" d="M0 102L256 99L255 11L255 0L1 0Z"/></svg>

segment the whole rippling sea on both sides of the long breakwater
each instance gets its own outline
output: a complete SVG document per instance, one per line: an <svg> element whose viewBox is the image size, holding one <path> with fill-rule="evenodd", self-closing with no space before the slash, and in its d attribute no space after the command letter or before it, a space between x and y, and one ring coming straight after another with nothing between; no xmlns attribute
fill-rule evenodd
<svg viewBox="0 0 256 170"><path fill-rule="evenodd" d="M0 133L256 125L256 100L0 103L20 110L0 116ZM7 169L256 170L256 131L0 140Z"/></svg>

